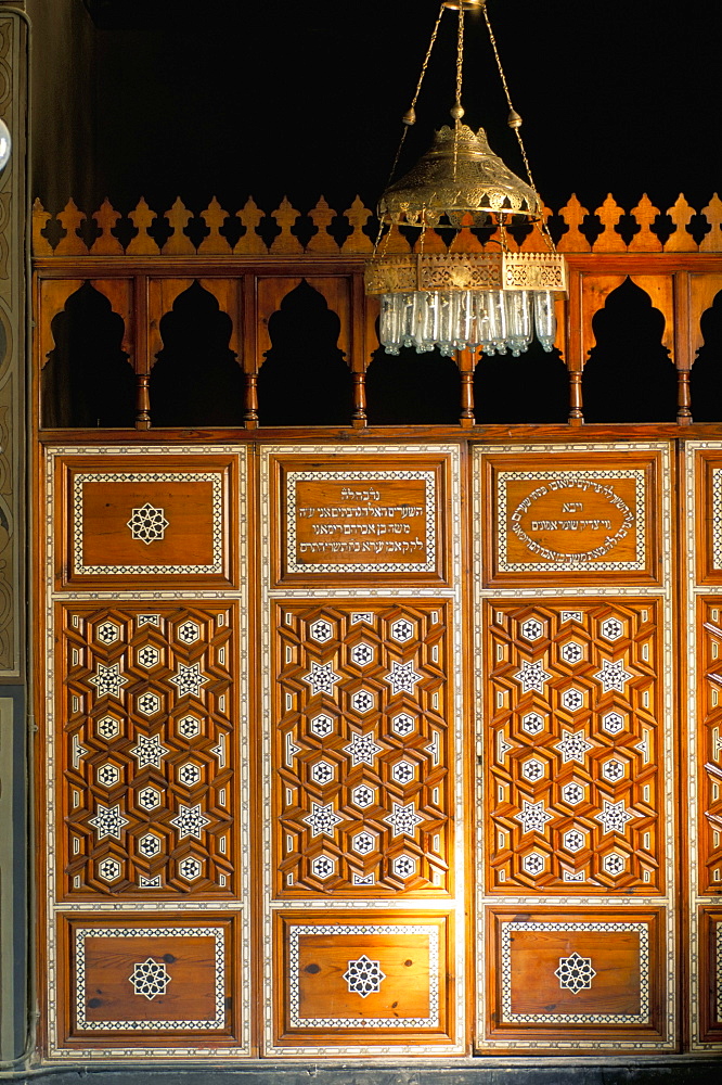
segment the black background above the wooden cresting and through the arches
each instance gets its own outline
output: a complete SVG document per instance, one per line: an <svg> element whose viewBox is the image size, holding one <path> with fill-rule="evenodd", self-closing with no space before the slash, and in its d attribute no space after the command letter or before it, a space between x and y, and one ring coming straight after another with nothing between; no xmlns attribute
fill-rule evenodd
<svg viewBox="0 0 722 1085"><path fill-rule="evenodd" d="M699 212L722 191L722 3L488 2L547 206L558 209L577 193L594 212L611 192L630 210L646 192L663 213L682 192ZM374 207L439 11L438 0L26 3L34 24L34 194L50 212L73 197L87 214L106 196L127 214L144 196L159 216L156 230L164 229L163 215L177 196L196 224L212 196L231 215L248 196L267 214L284 195L301 213L321 195L340 213L357 193ZM481 13L469 13L466 24L464 119L484 125L492 149L523 174ZM449 120L455 29L456 13L446 11L401 171L427 148L433 129ZM620 232L633 228L624 222ZM296 229L308 225L301 218ZM267 241L269 229L275 227L266 217L260 230ZM368 229L374 232L372 224ZM592 219L584 229L594 231ZM699 240L709 225L697 215L691 229ZM243 394L228 349L228 318L204 316L208 299L195 293L183 295L173 307L179 311L162 322L164 353L151 385L155 424L240 424ZM61 355L66 366L75 359L82 393L72 424L132 424L132 388L116 394L107 375L116 367L128 376L118 344L108 345L107 373L99 368L102 312L91 317L81 306L66 323L54 331L56 342L65 336L53 362L57 373L53 378L52 366L43 373L46 424L68 424L53 414L70 387ZM595 318L596 344L584 369L588 421L675 417L676 379L661 346L662 327L661 314L630 280L614 292ZM109 344L117 330L106 331ZM259 375L261 423L348 423L350 374L337 348L337 317L323 298L307 285L292 292L269 331L273 349ZM702 332L693 411L699 421L714 421L722 418L722 293L702 317ZM91 376L98 394L89 396ZM394 359L376 352L366 387L373 424L459 419L459 371L436 353L404 349ZM88 403L80 403L83 396ZM479 423L563 422L568 374L558 352L543 355L532 344L512 362L485 357L475 399ZM123 418L116 417L120 403Z"/></svg>

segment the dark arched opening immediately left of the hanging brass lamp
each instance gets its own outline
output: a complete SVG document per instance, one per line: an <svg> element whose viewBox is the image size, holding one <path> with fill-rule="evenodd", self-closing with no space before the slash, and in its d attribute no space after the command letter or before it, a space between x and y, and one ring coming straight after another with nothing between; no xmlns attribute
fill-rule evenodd
<svg viewBox="0 0 722 1085"><path fill-rule="evenodd" d="M268 319L271 343L258 373L262 425L348 425L351 373L338 347L341 321L301 279Z"/></svg>

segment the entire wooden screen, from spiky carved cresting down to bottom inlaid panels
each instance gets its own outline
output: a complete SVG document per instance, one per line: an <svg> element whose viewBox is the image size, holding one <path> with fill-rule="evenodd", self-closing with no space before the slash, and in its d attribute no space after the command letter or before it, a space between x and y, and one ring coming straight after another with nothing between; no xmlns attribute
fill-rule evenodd
<svg viewBox="0 0 722 1085"><path fill-rule="evenodd" d="M253 201L163 238L144 202L36 207L49 1062L720 1049L722 424L689 373L721 207L550 215L568 424L477 425L462 355L459 425L384 427L360 201L272 239ZM581 429L628 278L676 421ZM347 424L265 427L309 297ZM188 384L224 421L173 416Z"/></svg>

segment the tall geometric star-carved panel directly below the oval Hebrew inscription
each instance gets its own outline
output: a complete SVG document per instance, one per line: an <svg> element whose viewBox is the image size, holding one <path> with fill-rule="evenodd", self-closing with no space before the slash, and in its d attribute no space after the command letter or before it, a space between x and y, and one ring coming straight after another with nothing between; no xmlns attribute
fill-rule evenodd
<svg viewBox="0 0 722 1085"><path fill-rule="evenodd" d="M663 891L660 602L484 613L488 891Z"/></svg>

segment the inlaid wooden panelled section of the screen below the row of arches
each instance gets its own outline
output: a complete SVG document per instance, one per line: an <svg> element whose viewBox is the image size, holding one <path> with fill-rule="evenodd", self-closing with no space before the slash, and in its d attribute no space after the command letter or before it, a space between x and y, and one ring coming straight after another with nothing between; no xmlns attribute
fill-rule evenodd
<svg viewBox="0 0 722 1085"><path fill-rule="evenodd" d="M722 445L679 507L672 451L49 446L49 1056L719 1044Z"/></svg>

